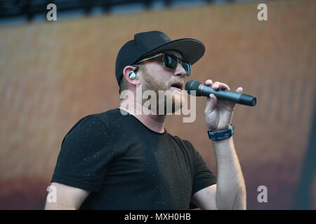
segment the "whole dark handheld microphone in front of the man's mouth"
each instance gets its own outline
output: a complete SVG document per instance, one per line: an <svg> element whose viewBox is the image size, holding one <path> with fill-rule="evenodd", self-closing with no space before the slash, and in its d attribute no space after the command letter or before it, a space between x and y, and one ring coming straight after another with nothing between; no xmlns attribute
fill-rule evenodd
<svg viewBox="0 0 316 224"><path fill-rule="evenodd" d="M213 93L217 97L217 99L235 102L237 104L242 104L246 106L255 106L257 103L256 97L247 94L240 94L238 92L233 92L230 90L213 90L211 86L205 85L199 80L188 81L187 84L185 84L185 90L187 90L188 94L192 94L197 97L209 97L209 94Z"/></svg>

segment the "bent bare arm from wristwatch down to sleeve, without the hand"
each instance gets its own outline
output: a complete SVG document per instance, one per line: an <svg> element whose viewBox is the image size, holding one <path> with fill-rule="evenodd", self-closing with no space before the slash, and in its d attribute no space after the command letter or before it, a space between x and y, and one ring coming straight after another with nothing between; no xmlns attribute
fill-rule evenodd
<svg viewBox="0 0 316 224"><path fill-rule="evenodd" d="M192 202L201 209L246 209L246 188L232 137L213 141L218 181L199 190Z"/></svg>

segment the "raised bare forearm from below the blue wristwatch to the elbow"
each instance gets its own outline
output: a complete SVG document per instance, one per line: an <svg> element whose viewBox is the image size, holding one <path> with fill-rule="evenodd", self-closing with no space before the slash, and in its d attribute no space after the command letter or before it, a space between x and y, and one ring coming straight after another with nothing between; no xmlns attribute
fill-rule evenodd
<svg viewBox="0 0 316 224"><path fill-rule="evenodd" d="M218 168L216 207L246 209L246 187L232 137L213 141Z"/></svg>

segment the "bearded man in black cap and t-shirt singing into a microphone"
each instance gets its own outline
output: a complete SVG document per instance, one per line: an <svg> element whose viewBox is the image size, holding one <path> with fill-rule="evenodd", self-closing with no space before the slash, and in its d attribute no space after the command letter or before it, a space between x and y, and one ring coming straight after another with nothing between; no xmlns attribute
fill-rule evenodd
<svg viewBox="0 0 316 224"><path fill-rule="evenodd" d="M173 112L179 109L185 76L190 76L191 64L204 49L192 38L171 41L160 31L149 31L136 34L119 50L115 73L120 93L136 95L138 87L157 96L159 90L171 91L158 101L151 97L156 104L150 108L144 106L145 100L121 97L120 109L79 120L62 141L51 180L57 201L46 202L46 209L246 209L244 179L231 136L235 103L217 100L213 94L206 102L211 134L230 133L213 140L218 179L189 141L164 129L166 110L154 113L167 106L168 99ZM205 85L229 90L212 80ZM201 134L207 137L206 132Z"/></svg>

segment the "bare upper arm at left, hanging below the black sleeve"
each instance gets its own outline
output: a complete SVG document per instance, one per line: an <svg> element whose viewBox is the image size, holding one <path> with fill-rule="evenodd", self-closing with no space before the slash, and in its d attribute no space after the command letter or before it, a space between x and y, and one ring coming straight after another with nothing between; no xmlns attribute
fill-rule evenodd
<svg viewBox="0 0 316 224"><path fill-rule="evenodd" d="M46 200L45 210L77 210L90 191L81 188L74 188L62 183L51 183L56 189L56 202L48 202Z"/></svg>

